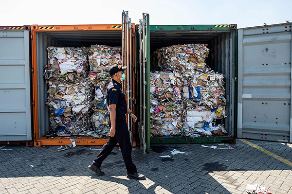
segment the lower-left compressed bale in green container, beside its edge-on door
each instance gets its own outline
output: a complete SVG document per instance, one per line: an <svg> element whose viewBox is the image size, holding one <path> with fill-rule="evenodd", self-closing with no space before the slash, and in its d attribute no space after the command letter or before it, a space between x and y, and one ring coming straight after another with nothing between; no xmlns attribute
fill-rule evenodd
<svg viewBox="0 0 292 194"><path fill-rule="evenodd" d="M181 87L173 73L150 73L150 132L154 135L182 135Z"/></svg>

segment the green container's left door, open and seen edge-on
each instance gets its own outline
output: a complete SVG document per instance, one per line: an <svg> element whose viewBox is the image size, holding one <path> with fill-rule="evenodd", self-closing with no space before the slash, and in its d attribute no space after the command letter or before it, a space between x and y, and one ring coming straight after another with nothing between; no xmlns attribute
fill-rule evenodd
<svg viewBox="0 0 292 194"><path fill-rule="evenodd" d="M150 152L150 33L149 33L149 14L143 13L143 19L137 28L137 36L139 36L138 48L139 51L139 78L138 91L140 103L140 122L139 122L139 139L141 146L143 146L144 154Z"/></svg>

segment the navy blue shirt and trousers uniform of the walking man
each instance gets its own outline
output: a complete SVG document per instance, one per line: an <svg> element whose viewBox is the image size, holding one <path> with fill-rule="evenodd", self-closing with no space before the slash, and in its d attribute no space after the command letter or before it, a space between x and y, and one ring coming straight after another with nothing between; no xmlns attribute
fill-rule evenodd
<svg viewBox="0 0 292 194"><path fill-rule="evenodd" d="M128 173L134 174L137 173L137 168L132 161L132 144L129 137L128 125L126 122L127 114L127 102L126 95L123 93L122 84L118 83L115 80L111 80L107 88L107 108L110 112L109 106L112 104L116 105L116 128L114 137L110 137L102 147L100 153L93 160L93 164L100 168L104 159L106 159L112 149L119 143L123 159L127 168ZM109 124L110 124L110 115L109 115ZM111 127L111 124L110 124Z"/></svg>

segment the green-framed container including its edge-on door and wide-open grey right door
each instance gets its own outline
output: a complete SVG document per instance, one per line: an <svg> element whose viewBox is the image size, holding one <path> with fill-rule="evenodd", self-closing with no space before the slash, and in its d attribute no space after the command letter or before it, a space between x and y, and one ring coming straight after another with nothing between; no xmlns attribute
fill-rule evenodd
<svg viewBox="0 0 292 194"><path fill-rule="evenodd" d="M237 126L240 138L292 142L291 23L240 29L238 32L237 24L149 25L149 15L143 14L135 29L136 73L140 75L136 80L140 104L137 106L140 116L138 131L139 143L145 153L150 151L152 143L235 143ZM150 137L150 55L162 47L193 43L208 44L207 65L215 72L225 74L227 117L224 124L232 136ZM283 107L277 110L277 114L272 111L280 106ZM272 118L274 123L271 123Z"/></svg>

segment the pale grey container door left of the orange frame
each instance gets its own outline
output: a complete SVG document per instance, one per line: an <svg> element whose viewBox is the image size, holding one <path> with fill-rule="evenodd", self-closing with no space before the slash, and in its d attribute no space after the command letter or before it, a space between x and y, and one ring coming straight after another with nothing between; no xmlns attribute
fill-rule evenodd
<svg viewBox="0 0 292 194"><path fill-rule="evenodd" d="M31 141L29 26L0 27L0 141Z"/></svg>

